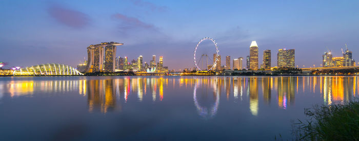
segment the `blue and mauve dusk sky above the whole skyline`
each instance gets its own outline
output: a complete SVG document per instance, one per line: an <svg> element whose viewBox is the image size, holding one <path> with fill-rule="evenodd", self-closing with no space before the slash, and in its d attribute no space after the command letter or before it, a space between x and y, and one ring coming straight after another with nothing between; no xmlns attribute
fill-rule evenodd
<svg viewBox="0 0 359 141"><path fill-rule="evenodd" d="M263 51L271 50L276 66L276 54L285 48L295 49L295 65L318 66L324 52L343 56L345 43L359 61L357 9L359 1L2 0L0 62L9 63L5 68L76 67L87 46L115 41L124 43L116 56L142 55L145 62L163 56L169 69L192 68L194 48L204 37L216 40L222 64L225 56L249 55L252 40L260 64Z"/></svg>

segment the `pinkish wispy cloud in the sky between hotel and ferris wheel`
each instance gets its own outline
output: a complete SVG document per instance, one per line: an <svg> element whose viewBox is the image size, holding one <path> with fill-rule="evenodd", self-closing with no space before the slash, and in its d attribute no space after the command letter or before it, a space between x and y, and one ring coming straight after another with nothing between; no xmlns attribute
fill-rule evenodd
<svg viewBox="0 0 359 141"><path fill-rule="evenodd" d="M128 33L131 31L133 32L138 29L157 31L157 29L153 25L151 25L149 23L145 23L135 17L129 17L129 16L117 13L117 14L113 14L111 16L111 18L114 20L120 21L118 28L123 33Z"/></svg>

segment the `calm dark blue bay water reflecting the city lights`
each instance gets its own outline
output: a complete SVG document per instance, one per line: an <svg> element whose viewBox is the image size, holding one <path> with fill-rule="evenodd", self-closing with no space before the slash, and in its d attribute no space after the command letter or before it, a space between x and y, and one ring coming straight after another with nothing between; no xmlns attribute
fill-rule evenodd
<svg viewBox="0 0 359 141"><path fill-rule="evenodd" d="M274 140L357 77L4 77L0 140Z"/></svg>

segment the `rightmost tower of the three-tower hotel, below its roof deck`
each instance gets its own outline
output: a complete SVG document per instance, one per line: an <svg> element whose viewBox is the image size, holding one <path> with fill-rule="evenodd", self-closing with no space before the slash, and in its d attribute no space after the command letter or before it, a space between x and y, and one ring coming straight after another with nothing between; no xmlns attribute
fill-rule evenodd
<svg viewBox="0 0 359 141"><path fill-rule="evenodd" d="M105 72L115 72L116 66L116 46L105 46Z"/></svg>

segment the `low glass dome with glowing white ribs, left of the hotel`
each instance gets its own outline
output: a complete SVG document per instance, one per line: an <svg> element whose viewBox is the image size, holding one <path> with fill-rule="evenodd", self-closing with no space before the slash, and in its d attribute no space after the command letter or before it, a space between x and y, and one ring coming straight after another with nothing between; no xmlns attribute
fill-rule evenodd
<svg viewBox="0 0 359 141"><path fill-rule="evenodd" d="M19 68L13 71L13 75L17 76L71 76L84 75L78 72L77 69L65 64L41 64L24 68Z"/></svg>

